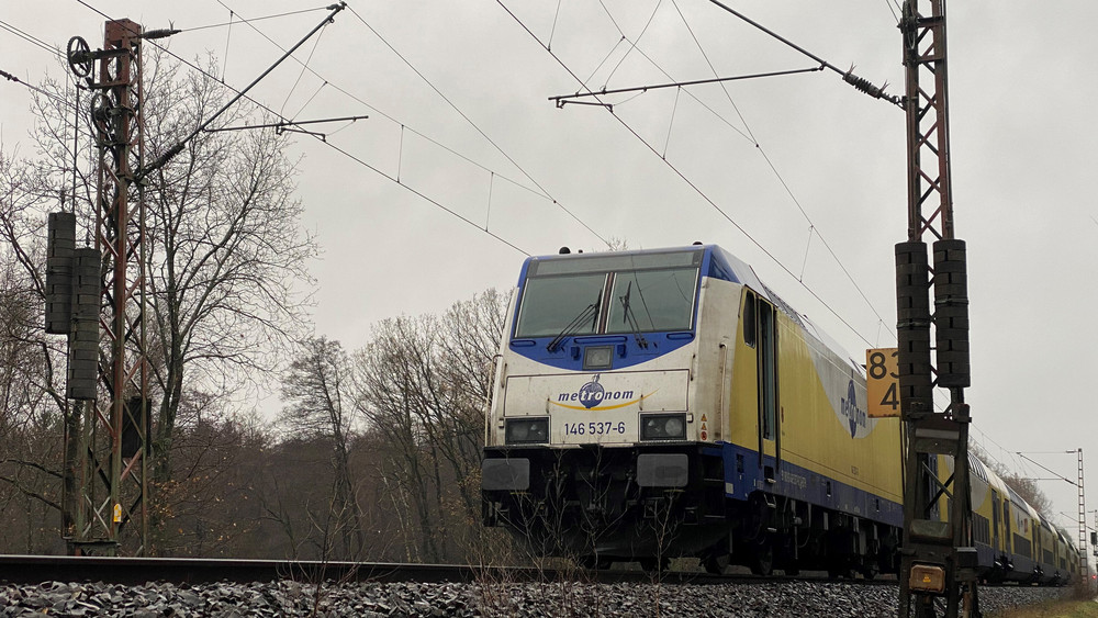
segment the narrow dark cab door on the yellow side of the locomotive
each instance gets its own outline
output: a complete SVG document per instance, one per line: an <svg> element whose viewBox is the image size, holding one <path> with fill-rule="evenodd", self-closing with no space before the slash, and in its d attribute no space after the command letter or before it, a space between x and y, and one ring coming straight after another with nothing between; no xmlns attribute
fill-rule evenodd
<svg viewBox="0 0 1098 618"><path fill-rule="evenodd" d="M781 409L777 389L777 313L765 299L747 291L743 302L743 340L755 352L755 400L759 423L759 465L773 482L781 459ZM773 464L769 463L773 458Z"/></svg>

